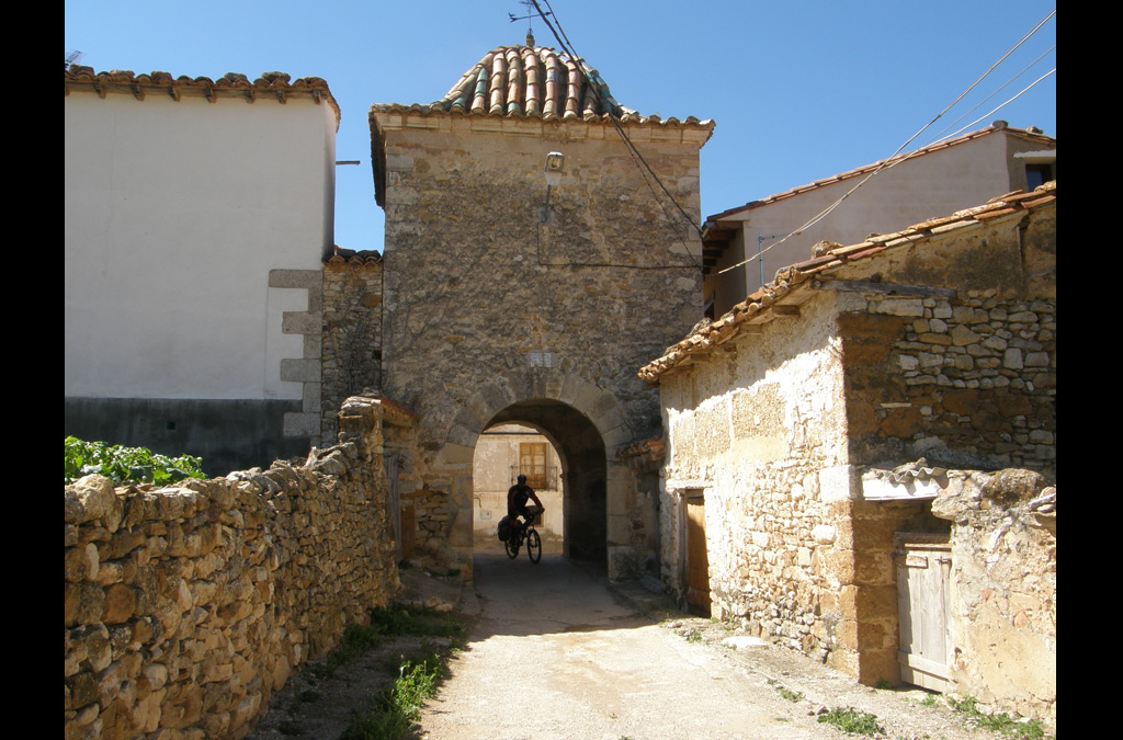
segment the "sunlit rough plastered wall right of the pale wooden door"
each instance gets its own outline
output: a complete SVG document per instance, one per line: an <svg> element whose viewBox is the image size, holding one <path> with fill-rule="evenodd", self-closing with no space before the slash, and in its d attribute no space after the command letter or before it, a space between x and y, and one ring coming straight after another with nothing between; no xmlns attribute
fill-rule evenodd
<svg viewBox="0 0 1123 740"><path fill-rule="evenodd" d="M960 694L1057 723L1057 488L1029 471L939 499L953 522L952 678Z"/></svg>

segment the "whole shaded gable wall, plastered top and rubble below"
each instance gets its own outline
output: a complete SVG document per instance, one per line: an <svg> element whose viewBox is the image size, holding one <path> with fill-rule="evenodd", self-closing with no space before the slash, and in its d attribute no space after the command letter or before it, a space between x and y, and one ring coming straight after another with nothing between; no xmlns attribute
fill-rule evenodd
<svg viewBox="0 0 1123 740"><path fill-rule="evenodd" d="M840 293L853 464L926 457L1056 479L1056 211L1043 211L839 274L933 289Z"/></svg>

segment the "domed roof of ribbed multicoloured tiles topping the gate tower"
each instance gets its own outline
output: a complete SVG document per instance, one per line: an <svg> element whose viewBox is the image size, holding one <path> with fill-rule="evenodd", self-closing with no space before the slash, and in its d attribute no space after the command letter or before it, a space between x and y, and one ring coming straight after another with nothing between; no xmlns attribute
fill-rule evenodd
<svg viewBox="0 0 1123 740"><path fill-rule="evenodd" d="M374 106L372 111L605 122L611 116L621 122L713 127L712 121L700 121L693 116L684 120L640 116L617 102L609 85L584 60L535 46L532 36L527 42L526 46L501 46L487 52L433 103Z"/></svg>

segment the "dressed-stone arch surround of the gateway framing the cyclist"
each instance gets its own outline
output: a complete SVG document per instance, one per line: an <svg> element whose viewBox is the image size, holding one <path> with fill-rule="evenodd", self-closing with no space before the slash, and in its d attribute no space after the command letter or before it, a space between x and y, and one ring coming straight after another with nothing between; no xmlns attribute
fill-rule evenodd
<svg viewBox="0 0 1123 740"><path fill-rule="evenodd" d="M521 421L542 429L566 459L566 554L606 559L628 542L628 469L617 450L632 441L615 396L579 375L532 367L500 376L469 395L436 456L437 466L457 478L454 487L469 503L453 518L449 545L459 559L472 557L472 459L489 427ZM611 575L611 574L610 574Z"/></svg>

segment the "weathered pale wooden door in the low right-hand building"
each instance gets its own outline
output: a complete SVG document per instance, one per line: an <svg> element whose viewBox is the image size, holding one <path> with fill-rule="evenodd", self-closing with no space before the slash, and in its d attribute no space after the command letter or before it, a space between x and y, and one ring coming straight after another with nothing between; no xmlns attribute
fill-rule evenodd
<svg viewBox="0 0 1123 740"><path fill-rule="evenodd" d="M901 679L948 691L951 547L947 539L898 537L896 560Z"/></svg>

